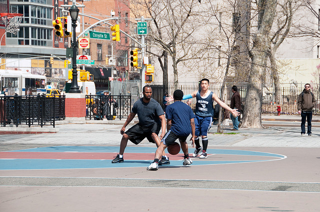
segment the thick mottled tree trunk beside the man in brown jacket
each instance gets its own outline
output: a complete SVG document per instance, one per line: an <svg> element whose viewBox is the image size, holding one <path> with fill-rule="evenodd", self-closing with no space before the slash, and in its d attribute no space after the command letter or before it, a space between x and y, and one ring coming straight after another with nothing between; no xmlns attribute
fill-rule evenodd
<svg viewBox="0 0 320 212"><path fill-rule="evenodd" d="M257 31L253 34L253 45L249 51L251 69L241 127L262 128L262 83L268 58L269 34L275 17L276 2L276 0L259 0L257 2Z"/></svg>

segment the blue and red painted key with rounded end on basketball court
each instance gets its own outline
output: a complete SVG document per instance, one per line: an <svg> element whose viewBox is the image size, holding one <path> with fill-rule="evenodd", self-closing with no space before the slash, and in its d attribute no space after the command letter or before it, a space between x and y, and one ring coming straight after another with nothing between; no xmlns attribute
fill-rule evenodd
<svg viewBox="0 0 320 212"><path fill-rule="evenodd" d="M147 167L153 161L155 150L156 148L152 147L126 147L124 162L119 164L111 163L111 160L119 151L119 147L54 146L7 151L0 152L0 170ZM191 151L193 150L190 149L189 152ZM190 166L267 162L286 158L286 156L279 154L245 150L207 149L206 152L208 154L207 159L191 158L193 163ZM99 157L94 157L95 155ZM192 154L189 153L189 155ZM210 157L214 155L232 155L239 157L239 160L216 160L216 158ZM88 156L92 159L87 159ZM50 157L54 159L48 159ZM182 151L177 156L168 155L168 157L170 158L170 165L163 166L182 166ZM249 157L250 160L245 160L245 157Z"/></svg>

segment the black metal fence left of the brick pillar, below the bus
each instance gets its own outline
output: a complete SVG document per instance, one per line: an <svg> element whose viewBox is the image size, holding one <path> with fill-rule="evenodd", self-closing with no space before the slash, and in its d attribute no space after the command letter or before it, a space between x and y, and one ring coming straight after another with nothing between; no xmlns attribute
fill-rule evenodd
<svg viewBox="0 0 320 212"><path fill-rule="evenodd" d="M1 96L0 126L6 125L52 125L64 120L65 96Z"/></svg>

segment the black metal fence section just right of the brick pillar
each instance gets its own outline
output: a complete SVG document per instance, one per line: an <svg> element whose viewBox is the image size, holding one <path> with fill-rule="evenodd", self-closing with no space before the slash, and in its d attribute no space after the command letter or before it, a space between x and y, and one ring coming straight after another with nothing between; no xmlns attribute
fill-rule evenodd
<svg viewBox="0 0 320 212"><path fill-rule="evenodd" d="M85 95L86 120L126 118L131 112L131 95Z"/></svg>

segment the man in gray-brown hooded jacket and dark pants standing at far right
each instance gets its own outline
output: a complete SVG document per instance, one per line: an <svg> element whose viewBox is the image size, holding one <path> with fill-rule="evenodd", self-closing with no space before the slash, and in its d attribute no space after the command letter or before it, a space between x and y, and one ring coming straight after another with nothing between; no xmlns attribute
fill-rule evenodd
<svg viewBox="0 0 320 212"><path fill-rule="evenodd" d="M302 93L298 97L298 113L301 114L301 135L305 134L305 118L308 122L307 134L311 136L311 119L312 119L312 108L315 106L315 98L313 93L310 91L310 84L306 83Z"/></svg>

